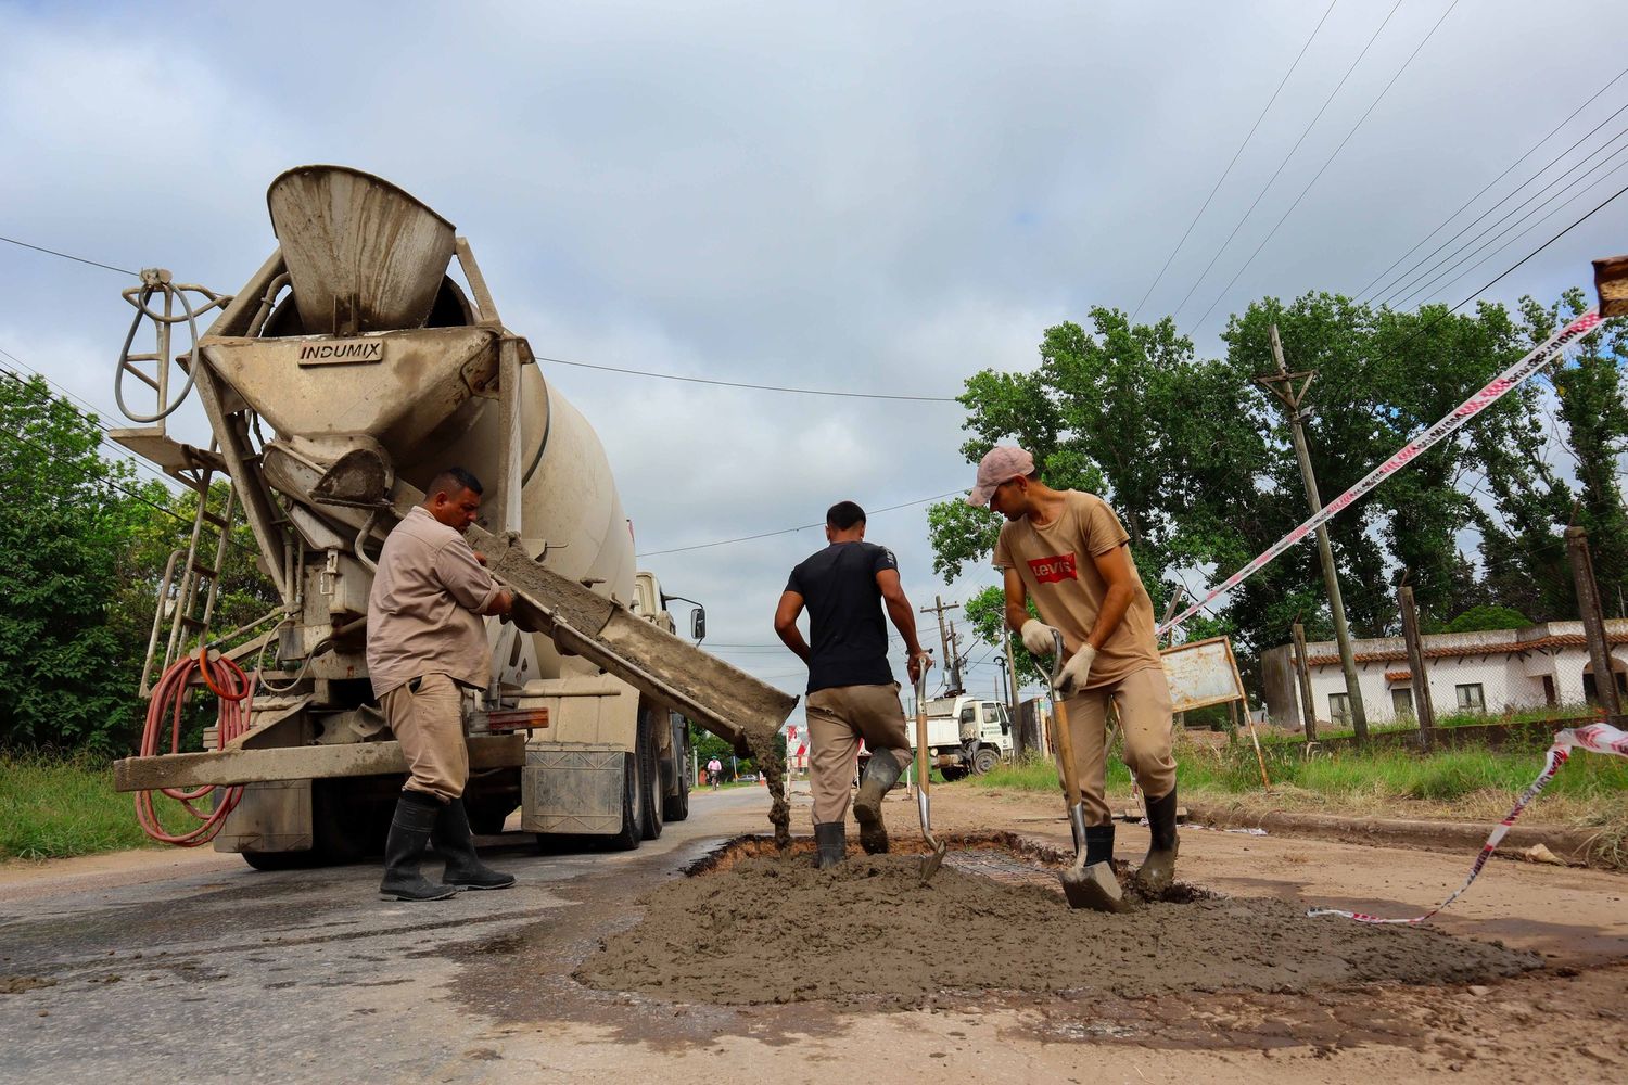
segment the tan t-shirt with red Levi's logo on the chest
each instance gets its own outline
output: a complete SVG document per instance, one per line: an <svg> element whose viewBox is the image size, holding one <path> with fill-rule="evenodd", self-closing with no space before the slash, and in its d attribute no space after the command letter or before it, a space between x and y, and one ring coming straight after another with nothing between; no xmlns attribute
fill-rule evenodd
<svg viewBox="0 0 1628 1085"><path fill-rule="evenodd" d="M1109 503L1094 493L1063 491L1063 511L1045 525L1029 517L1009 521L995 543L995 568L1017 569L1040 621L1063 634L1070 656L1091 636L1109 586L1092 558L1130 540ZM1153 600L1136 576L1136 561L1125 551L1131 573L1130 607L1091 665L1086 688L1112 685L1148 667L1164 667L1153 634Z"/></svg>

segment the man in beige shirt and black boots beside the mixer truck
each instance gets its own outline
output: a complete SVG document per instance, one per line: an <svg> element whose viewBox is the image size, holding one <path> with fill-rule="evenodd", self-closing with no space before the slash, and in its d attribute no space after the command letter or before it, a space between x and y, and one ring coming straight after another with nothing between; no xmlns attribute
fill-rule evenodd
<svg viewBox="0 0 1628 1085"><path fill-rule="evenodd" d="M462 797L464 690L484 690L492 678L482 617L506 617L514 605L464 540L480 490L461 467L436 475L423 504L384 540L368 597L368 677L410 773L384 844L386 900L431 901L514 885L514 875L475 854ZM418 874L425 843L446 859L440 883Z"/></svg>

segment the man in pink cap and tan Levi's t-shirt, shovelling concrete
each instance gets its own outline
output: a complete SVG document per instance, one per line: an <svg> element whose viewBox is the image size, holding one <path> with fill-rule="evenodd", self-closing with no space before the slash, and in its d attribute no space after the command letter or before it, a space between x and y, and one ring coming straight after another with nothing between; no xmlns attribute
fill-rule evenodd
<svg viewBox="0 0 1628 1085"><path fill-rule="evenodd" d="M1006 586L1006 625L1032 656L1052 656L1052 631L1068 659L1057 680L1066 701L1074 769L1086 807L1086 865L1114 856L1114 818L1104 799L1109 703L1118 712L1125 765L1148 805L1153 846L1136 878L1151 891L1175 877L1175 760L1171 688L1154 639L1153 600L1136 574L1128 535L1091 493L1052 490L1034 457L996 446L978 464L967 504L1006 517L995 568ZM1032 599L1040 620L1029 617Z"/></svg>

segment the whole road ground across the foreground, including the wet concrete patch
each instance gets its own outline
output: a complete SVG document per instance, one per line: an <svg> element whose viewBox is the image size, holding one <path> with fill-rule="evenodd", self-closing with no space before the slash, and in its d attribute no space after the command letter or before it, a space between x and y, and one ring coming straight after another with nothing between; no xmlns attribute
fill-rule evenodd
<svg viewBox="0 0 1628 1085"><path fill-rule="evenodd" d="M1104 922L990 846L954 848L933 901L912 856L843 877L718 862L728 839L768 831L768 800L694 804L637 852L495 848L521 885L435 913L381 908L370 867L265 875L207 852L0 867L15 991L0 1080L1628 1078L1620 874L1496 861L1429 929L1374 932L1302 913L1416 914L1473 856L1187 828L1180 878L1201 891ZM956 787L933 815L1058 849L1058 807ZM886 808L910 839L913 802ZM791 828L809 833L806 791ZM1144 830L1120 830L1122 859L1144 848ZM718 893L731 883L747 888ZM876 971L902 979L853 981ZM177 1000L207 1026L153 1031Z"/></svg>

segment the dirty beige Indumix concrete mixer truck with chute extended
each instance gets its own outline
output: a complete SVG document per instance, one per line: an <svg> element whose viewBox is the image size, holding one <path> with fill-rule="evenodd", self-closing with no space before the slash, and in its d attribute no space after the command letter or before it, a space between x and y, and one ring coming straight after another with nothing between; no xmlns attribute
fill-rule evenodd
<svg viewBox="0 0 1628 1085"><path fill-rule="evenodd" d="M384 537L449 464L485 480L469 537L516 595L513 623L487 620L490 686L466 693L477 831L519 807L526 831L635 848L687 813L685 717L773 750L794 699L674 634L593 426L503 325L453 224L340 166L283 172L267 203L277 249L234 294L163 270L125 291L116 392L137 425L112 436L199 495L156 592L148 730L114 768L148 831L260 869L378 851L405 761L368 682L368 592ZM169 433L189 392L207 447ZM277 604L228 631L239 522ZM182 750L179 721L208 696L217 719ZM155 792L197 825L161 825Z"/></svg>

